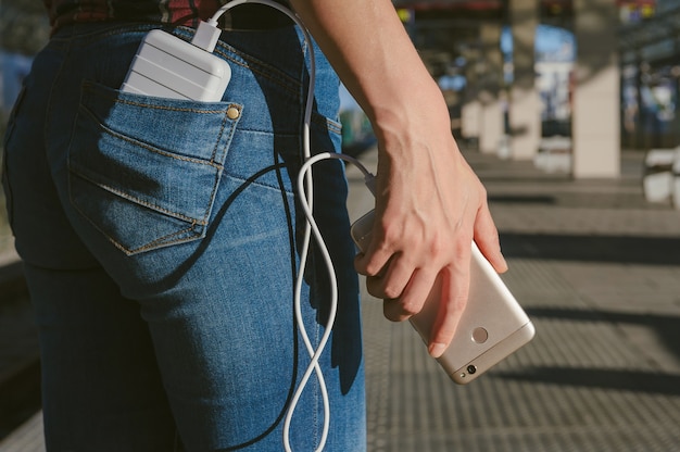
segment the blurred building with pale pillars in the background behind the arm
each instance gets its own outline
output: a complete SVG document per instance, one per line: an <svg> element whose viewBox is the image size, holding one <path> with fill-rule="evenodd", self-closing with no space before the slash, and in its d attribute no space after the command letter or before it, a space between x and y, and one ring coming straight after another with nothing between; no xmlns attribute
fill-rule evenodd
<svg viewBox="0 0 680 452"><path fill-rule="evenodd" d="M622 147L680 145L680 0L394 4L463 143L567 153L575 177L617 177Z"/></svg>

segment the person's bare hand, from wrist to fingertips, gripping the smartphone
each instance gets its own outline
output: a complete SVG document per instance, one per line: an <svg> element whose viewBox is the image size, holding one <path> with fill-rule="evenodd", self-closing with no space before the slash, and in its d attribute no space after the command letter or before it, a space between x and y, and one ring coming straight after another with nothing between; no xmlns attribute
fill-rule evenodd
<svg viewBox="0 0 680 452"><path fill-rule="evenodd" d="M430 290L440 290L428 344L438 357L467 304L471 241L498 272L507 266L486 189L451 135L448 111L437 93L420 101L406 121L393 117L399 127L378 128L376 219L355 267L394 322L420 312Z"/></svg>

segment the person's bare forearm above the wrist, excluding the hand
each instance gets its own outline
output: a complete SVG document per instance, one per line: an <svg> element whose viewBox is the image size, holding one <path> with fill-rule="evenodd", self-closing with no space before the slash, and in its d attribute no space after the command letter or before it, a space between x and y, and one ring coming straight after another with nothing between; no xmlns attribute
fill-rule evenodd
<svg viewBox="0 0 680 452"><path fill-rule="evenodd" d="M326 56L374 124L403 128L419 102L441 93L389 0L292 0ZM443 100L438 108L443 106Z"/></svg>

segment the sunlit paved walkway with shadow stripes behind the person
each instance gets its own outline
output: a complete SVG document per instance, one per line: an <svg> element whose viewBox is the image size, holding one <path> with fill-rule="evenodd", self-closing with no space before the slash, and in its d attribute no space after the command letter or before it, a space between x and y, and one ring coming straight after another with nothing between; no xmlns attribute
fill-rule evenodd
<svg viewBox="0 0 680 452"><path fill-rule="evenodd" d="M680 212L643 200L641 155L624 153L621 179L589 181L466 156L537 337L461 387L367 297L368 450L680 451ZM373 201L350 181L356 217ZM38 415L0 451L41 451L39 434Z"/></svg>

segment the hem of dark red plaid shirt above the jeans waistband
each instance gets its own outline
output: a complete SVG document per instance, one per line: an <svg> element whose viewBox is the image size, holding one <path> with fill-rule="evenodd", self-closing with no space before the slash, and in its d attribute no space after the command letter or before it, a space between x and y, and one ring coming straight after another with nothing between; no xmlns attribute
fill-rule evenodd
<svg viewBox="0 0 680 452"><path fill-rule="evenodd" d="M140 21L197 26L226 0L45 0L52 32L98 21Z"/></svg>

